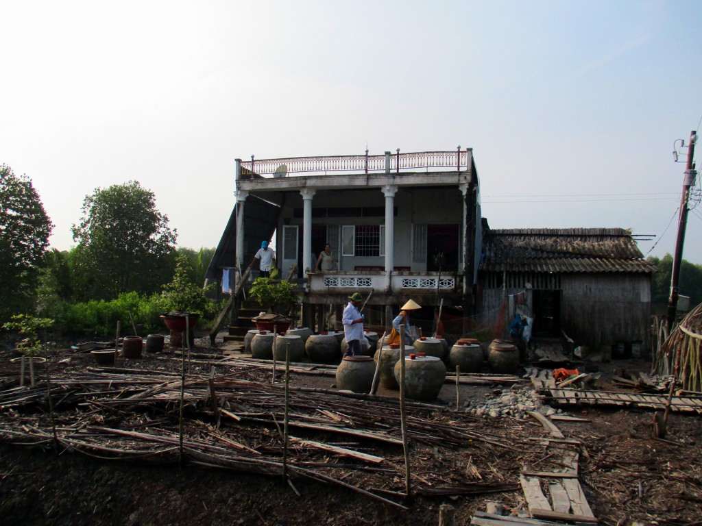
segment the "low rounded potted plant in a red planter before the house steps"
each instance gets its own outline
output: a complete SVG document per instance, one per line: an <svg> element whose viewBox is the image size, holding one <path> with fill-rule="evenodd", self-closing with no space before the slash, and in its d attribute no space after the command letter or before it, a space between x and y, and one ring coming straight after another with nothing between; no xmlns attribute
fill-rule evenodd
<svg viewBox="0 0 702 526"><path fill-rule="evenodd" d="M257 278L253 281L249 295L267 311L266 314L252 318L256 328L276 332L289 328L292 319L286 314L298 297L295 285L285 280Z"/></svg>

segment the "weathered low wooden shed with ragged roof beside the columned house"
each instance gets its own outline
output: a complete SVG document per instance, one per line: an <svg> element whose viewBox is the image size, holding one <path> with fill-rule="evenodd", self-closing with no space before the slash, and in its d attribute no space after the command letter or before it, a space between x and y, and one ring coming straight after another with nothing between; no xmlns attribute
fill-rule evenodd
<svg viewBox="0 0 702 526"><path fill-rule="evenodd" d="M649 356L651 276L625 229L489 229L484 225L479 303L533 320L536 337L591 349L639 346Z"/></svg>

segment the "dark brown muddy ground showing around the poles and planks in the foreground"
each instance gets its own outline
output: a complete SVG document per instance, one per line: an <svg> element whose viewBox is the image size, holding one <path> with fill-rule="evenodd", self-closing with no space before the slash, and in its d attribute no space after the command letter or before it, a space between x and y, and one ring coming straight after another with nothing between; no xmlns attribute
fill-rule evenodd
<svg viewBox="0 0 702 526"><path fill-rule="evenodd" d="M232 374L232 371L239 374L233 365L217 365L223 354L221 344L209 347L206 339L198 339L197 344L196 351L201 356L194 358L193 375L206 377L213 364L217 375ZM3 382L0 395L3 391L18 389L17 367L9 362L9 358L7 351L0 352L0 378ZM49 364L50 370L60 371L63 378L100 374L89 356L78 355L71 349L54 351ZM169 350L158 354L145 353L139 360L121 360L119 363L124 370L131 368L138 372L161 370L175 373L181 366L182 360ZM600 389L620 390L621 387L611 382L616 370L648 372L649 367L650 363L644 360L615 360L600 364L602 377L597 385ZM240 375L247 382L269 384L271 372L248 367L241 370ZM89 383L89 377L85 378L84 382ZM290 383L291 387L322 391L331 391L333 384L333 376L299 373L291 375ZM525 382L514 388L526 385ZM427 440L410 440L415 495L412 499L398 497L404 490L404 453L397 445L381 444L375 440L349 439L343 442L329 433L307 431L306 439L352 447L384 460L378 464L380 468L359 467L355 459L297 447L291 450L291 464L314 466L319 470L322 469L319 466L329 466L331 469L325 471L326 475L338 483L296 477L288 484L281 476L245 473L227 466L204 466L202 464L206 463L193 462L181 466L173 454L144 454L124 459L112 454L107 447L102 452L92 450L88 454L85 448L65 447L65 443L57 447L53 440L29 440L27 437L36 436L37 429L51 431L46 400L13 407L0 403L1 522L120 526L417 525L437 524L439 506L450 504L456 511L456 524L467 525L475 510L485 509L486 501L498 502L508 512L523 512L526 502L519 487L519 472L524 464L536 466L549 456L545 446L533 440L548 433L534 419L475 417L464 410L471 400L490 400L514 388L505 384L462 384L459 388L461 411L456 412L456 388L445 384L435 408L413 408L411 421L429 424L422 424L422 430L416 431L418 437L425 433ZM395 391L380 390L378 394L397 398ZM314 400L323 398L309 396L310 405L317 405L317 409L322 407ZM330 400L338 398L325 393L318 396ZM362 407L368 407L369 414L375 410L373 405L356 405L367 403L363 400L344 399L343 403L347 404L349 418L358 428L361 427ZM98 417L105 419L105 422L100 420L98 423L119 429L156 429L159 425L173 429L174 425L177 426L177 420L173 420L177 410L171 405L156 409L140 407L135 410L136 416L126 407L120 407L121 410L112 409L103 417L98 412L86 410L81 404L59 406L55 410L58 433L63 427L81 421L86 423L79 426L84 426L83 431L89 436L88 431ZM338 414L344 412L340 410ZM652 438L651 411L578 407L567 414L590 420L557 422L557 426L567 438L577 438L583 443L578 464L579 478L588 503L601 524L632 525L638 521L647 525L702 525L700 417L670 414L668 440L664 441ZM215 432L213 422L203 415L204 408L199 406L186 415L189 438L194 440L196 436ZM135 418L139 424L134 424ZM367 424L382 425L383 418L379 420L371 422L369 417ZM396 421L388 414L385 424L390 424L385 427L388 433L397 436L399 431L391 429L392 422ZM241 443L256 445L256 450L265 455L280 453L277 431L270 426L254 422L246 426L230 424L225 428L227 433L239 433L227 435L230 439L234 436ZM470 433L472 438L466 438L469 435L464 434L461 435L464 437L462 441L447 440L444 445L442 433L451 431L442 430L449 428L461 429L462 433ZM26 431L26 437L22 436L22 429ZM296 433L300 436L302 431L296 430ZM435 436L430 437L432 434ZM406 509L380 502L354 488L388 497ZM442 492L432 494L437 488Z"/></svg>

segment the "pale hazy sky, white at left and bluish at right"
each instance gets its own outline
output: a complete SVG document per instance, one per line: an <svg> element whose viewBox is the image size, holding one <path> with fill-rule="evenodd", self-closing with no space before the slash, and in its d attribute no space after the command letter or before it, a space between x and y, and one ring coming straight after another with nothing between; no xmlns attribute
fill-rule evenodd
<svg viewBox="0 0 702 526"><path fill-rule="evenodd" d="M179 246L216 247L234 159L367 144L472 148L491 228L621 227L675 251L701 1L0 0L0 20L0 163L32 180L53 248L75 245L86 196L130 180ZM702 206L683 257L702 264Z"/></svg>

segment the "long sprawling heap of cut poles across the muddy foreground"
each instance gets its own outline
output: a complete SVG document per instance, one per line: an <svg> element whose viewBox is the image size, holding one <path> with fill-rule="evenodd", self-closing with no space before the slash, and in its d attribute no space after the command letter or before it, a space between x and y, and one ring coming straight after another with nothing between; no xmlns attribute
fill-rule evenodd
<svg viewBox="0 0 702 526"><path fill-rule="evenodd" d="M274 383L267 371L232 365L219 376L214 365L209 375L186 375L185 365L182 373L53 370L34 388L0 389L0 440L283 476L293 489L292 479L304 478L402 507L406 492L395 483L404 471L399 401L290 386L286 368L286 382ZM407 400L405 415L417 452L440 448L461 457L465 450L476 456L483 450L487 457L498 447L523 453L508 433L477 431L469 414ZM423 453L417 454L413 461L421 464ZM414 493L427 495L518 488L503 480L456 480L430 468L412 473L412 480Z"/></svg>

